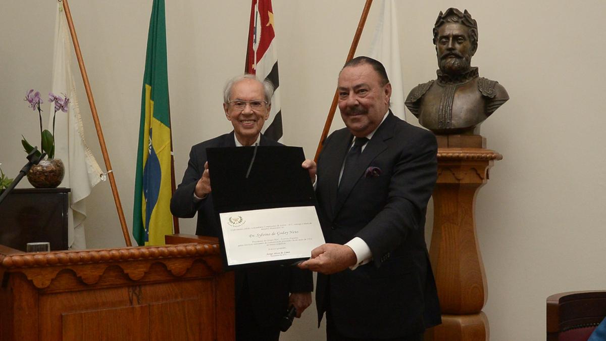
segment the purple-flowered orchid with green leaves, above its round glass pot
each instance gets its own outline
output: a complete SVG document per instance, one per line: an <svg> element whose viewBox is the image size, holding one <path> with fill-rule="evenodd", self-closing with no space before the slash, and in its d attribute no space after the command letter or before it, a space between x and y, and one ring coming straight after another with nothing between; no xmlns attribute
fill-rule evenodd
<svg viewBox="0 0 606 341"><path fill-rule="evenodd" d="M52 92L48 93L48 101L50 103L55 103L55 113L53 113L53 132L48 131L48 129L42 130L42 109L40 104L44 103L42 98L40 98L40 92L34 90L29 90L25 95L24 101L30 104L30 108L36 111L38 110L38 117L40 120L40 146L41 151L36 152L36 157L41 155L41 152L45 152L48 155L48 158L55 157L55 117L57 112L61 110L62 112L67 112L67 106L70 103L70 99L67 98L67 95L63 94L63 96L57 96ZM25 152L30 154L34 147L30 143L25 140L25 137L21 135L23 140L21 140L21 144L23 145Z"/></svg>

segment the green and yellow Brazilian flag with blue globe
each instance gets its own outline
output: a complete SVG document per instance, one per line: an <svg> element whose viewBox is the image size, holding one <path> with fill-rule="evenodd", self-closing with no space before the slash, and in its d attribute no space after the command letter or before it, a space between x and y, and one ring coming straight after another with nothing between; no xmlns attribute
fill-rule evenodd
<svg viewBox="0 0 606 341"><path fill-rule="evenodd" d="M164 245L173 232L170 110L164 0L153 0L141 94L133 236L142 245Z"/></svg>

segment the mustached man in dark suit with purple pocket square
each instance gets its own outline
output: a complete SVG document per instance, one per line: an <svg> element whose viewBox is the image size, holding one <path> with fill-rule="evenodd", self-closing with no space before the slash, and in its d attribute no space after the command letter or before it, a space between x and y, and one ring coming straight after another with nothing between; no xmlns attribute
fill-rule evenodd
<svg viewBox="0 0 606 341"><path fill-rule="evenodd" d="M422 340L441 321L424 232L436 137L393 115L391 84L375 59L347 62L338 95L347 127L326 139L317 169L303 163L317 175L327 243L299 267L319 272L328 341Z"/></svg>

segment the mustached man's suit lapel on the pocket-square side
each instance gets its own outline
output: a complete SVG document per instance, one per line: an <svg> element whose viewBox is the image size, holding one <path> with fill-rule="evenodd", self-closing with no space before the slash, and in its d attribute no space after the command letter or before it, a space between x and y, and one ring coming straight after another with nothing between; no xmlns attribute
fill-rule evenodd
<svg viewBox="0 0 606 341"><path fill-rule="evenodd" d="M381 154L385 149L387 149L387 143L385 143L385 141L389 140L391 137L393 137L393 120L395 120L395 116L393 116L393 113L391 113L391 111L387 114L387 118L385 118L385 121L383 121L383 123L381 124L381 126L379 126L379 128L376 130L375 135L373 135L373 138L371 138L370 141L368 141L368 143L366 144L366 147L364 147L364 150L362 150L362 154L360 155L359 159L358 159L358 163L355 165L352 165L355 171L355 174L357 174L358 176L356 177L355 181L350 181L348 183L341 183L340 186L344 186L342 187L342 195L343 198L342 200L340 200L339 202L336 201L336 189L335 189L335 201L331 201L331 203L333 203L333 207L335 208L334 213L335 215L333 215L333 217L336 217L336 214L339 213L339 210L341 210L341 208L343 207L343 204L345 203L345 201L347 200L347 197L350 195L351 190L353 190L353 188L356 186L356 184L358 183L358 181L365 176L366 173L366 169L368 169L368 166L370 166L370 163L375 160L376 157L378 157L379 154ZM344 157L343 157L344 158ZM343 160L341 160L341 165L343 163ZM340 173L337 172L337 174ZM338 175L337 175L337 179L336 181L339 181Z"/></svg>

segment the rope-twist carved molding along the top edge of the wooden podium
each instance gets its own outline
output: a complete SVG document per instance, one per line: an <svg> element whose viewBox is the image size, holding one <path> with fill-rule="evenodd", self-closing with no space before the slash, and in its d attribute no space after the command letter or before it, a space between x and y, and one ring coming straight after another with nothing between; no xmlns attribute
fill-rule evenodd
<svg viewBox="0 0 606 341"><path fill-rule="evenodd" d="M82 251L55 251L45 253L0 254L3 268L41 268L44 266L81 265L90 263L116 263L127 260L153 260L191 257L193 255L219 255L219 245L180 244L167 246L141 246Z"/></svg>

